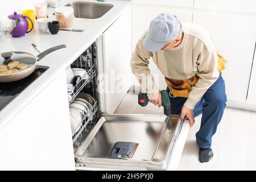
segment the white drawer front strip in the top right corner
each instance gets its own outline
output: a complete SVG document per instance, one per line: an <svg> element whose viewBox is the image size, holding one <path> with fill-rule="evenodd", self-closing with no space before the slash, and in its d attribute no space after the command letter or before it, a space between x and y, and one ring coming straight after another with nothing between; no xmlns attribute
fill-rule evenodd
<svg viewBox="0 0 256 182"><path fill-rule="evenodd" d="M239 13L256 13L255 0L195 0L195 9L214 11L233 11Z"/></svg>

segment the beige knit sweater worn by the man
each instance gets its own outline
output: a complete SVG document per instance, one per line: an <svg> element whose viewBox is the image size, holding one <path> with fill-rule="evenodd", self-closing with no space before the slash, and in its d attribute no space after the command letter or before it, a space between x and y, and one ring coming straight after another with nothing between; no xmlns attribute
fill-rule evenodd
<svg viewBox="0 0 256 182"><path fill-rule="evenodd" d="M184 104L189 109L193 109L219 76L217 53L207 30L195 23L182 23L182 26L184 33L182 42L168 51L147 51L142 46L147 35L145 32L131 57L131 69L142 87L147 90L149 99L155 99L159 92L148 69L150 57L168 78L184 80L198 75L199 81L192 87Z"/></svg>

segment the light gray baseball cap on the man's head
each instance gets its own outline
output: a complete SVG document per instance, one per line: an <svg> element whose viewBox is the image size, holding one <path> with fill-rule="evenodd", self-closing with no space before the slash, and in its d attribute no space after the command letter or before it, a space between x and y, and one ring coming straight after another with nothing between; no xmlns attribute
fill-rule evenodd
<svg viewBox="0 0 256 182"><path fill-rule="evenodd" d="M159 51L167 41L175 40L179 32L179 20L172 14L161 13L150 22L143 46L150 52Z"/></svg>

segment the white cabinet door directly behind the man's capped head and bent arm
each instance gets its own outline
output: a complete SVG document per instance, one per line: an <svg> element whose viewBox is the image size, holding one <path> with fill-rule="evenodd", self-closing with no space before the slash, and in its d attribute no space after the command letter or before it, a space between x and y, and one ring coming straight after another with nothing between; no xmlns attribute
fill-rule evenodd
<svg viewBox="0 0 256 182"><path fill-rule="evenodd" d="M160 13L171 13L177 16L181 22L192 22L192 9L171 9L164 6L141 6L134 5L133 6L133 15L132 15L132 49L134 51L138 40L141 38L142 34L148 29L150 26L150 21L158 16ZM155 78L156 84L158 84L159 89L166 89L166 82L164 81L164 76L160 73L158 67L155 63L150 60L149 65L150 71ZM137 79L132 77L132 84L139 86ZM138 91L138 90L136 90ZM144 92L145 90L143 90Z"/></svg>

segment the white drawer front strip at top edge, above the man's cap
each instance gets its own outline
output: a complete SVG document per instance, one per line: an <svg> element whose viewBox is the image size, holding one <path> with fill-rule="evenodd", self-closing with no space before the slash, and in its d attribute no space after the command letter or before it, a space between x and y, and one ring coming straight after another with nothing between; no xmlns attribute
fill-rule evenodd
<svg viewBox="0 0 256 182"><path fill-rule="evenodd" d="M172 7L193 7L193 0L132 0L132 3L141 3L143 5L159 5Z"/></svg>

